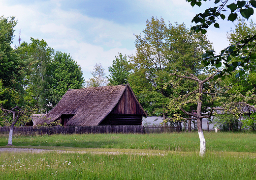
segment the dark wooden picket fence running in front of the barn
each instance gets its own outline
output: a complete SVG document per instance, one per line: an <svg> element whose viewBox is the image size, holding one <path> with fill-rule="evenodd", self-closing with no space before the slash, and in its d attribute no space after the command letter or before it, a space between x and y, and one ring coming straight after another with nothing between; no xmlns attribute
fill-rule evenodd
<svg viewBox="0 0 256 180"><path fill-rule="evenodd" d="M180 127L162 126L48 126L14 127L14 136L38 136L44 134L89 134L89 133L162 133L179 131ZM0 127L0 136L8 136L10 127Z"/></svg>

